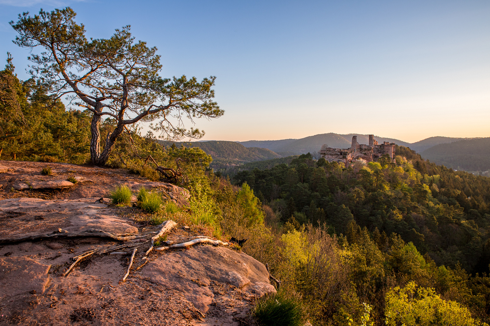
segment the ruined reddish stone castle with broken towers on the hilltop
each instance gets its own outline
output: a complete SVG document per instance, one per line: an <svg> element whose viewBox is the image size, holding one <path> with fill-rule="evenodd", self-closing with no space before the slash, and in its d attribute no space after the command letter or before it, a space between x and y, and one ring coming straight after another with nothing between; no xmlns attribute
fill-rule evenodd
<svg viewBox="0 0 490 326"><path fill-rule="evenodd" d="M328 162L342 162L345 166L353 160L364 159L367 162L376 162L384 154L390 155L393 160L395 143L383 142L378 144L374 135L369 135L369 145L359 144L357 136L352 136L352 145L348 149L331 148L322 146L320 155Z"/></svg>

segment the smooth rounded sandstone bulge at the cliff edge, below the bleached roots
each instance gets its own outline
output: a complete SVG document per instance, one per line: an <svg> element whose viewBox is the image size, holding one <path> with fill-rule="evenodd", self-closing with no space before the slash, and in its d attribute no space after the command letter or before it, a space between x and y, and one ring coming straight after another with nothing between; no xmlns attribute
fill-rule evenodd
<svg viewBox="0 0 490 326"><path fill-rule="evenodd" d="M257 297L275 292L261 262L244 253L208 245L169 251L150 261L143 277L182 292L202 312L209 309L214 297L211 281L234 285Z"/></svg>

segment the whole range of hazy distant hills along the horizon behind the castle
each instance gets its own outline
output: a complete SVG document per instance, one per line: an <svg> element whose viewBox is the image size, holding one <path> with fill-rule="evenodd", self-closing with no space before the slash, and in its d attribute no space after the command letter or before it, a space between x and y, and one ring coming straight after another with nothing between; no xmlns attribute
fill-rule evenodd
<svg viewBox="0 0 490 326"><path fill-rule="evenodd" d="M323 144L333 148L349 148L352 136L357 136L360 144L368 144L368 135L323 133L300 139L280 140L249 140L245 142L232 141L196 141L181 142L177 145L199 147L213 157L211 168L215 170L241 166L249 162L277 159L291 155L314 153ZM379 143L384 141L399 146L409 147L420 153L423 158L449 168L466 171L487 171L490 169L490 138L455 138L429 137L415 143L407 143L399 139L374 136ZM160 141L165 146L172 142ZM482 150L483 149L483 150Z"/></svg>

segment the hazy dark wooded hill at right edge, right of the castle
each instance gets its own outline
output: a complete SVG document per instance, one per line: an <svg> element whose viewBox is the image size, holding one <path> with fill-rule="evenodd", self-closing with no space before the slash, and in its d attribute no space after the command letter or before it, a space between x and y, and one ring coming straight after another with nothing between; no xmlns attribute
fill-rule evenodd
<svg viewBox="0 0 490 326"><path fill-rule="evenodd" d="M426 149L422 157L448 168L466 171L490 170L490 138L467 139Z"/></svg>

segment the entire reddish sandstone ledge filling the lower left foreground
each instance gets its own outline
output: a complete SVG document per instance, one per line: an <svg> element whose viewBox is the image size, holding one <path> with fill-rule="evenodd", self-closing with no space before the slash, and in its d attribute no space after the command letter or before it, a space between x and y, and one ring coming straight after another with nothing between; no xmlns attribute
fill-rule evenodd
<svg viewBox="0 0 490 326"><path fill-rule="evenodd" d="M41 174L47 166L52 175ZM110 192L120 184L135 192L141 187L157 191L180 206L189 198L184 188L121 169L0 161L0 239L59 229L140 237L118 241L89 234L0 245L0 325L254 325L252 304L275 291L264 265L244 253L210 245L153 250L148 262L142 260L147 240L159 228L136 218L144 215L139 208L110 204ZM210 237L206 230L184 226L172 229L167 242ZM94 254L63 277L73 257L124 244L134 246ZM133 267L122 283L134 248Z"/></svg>

